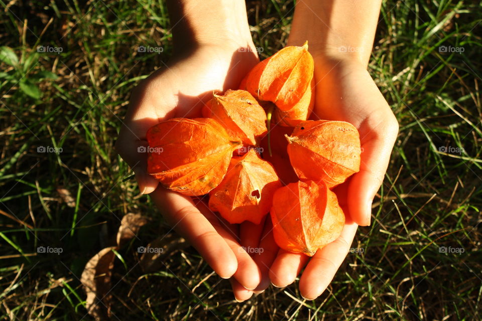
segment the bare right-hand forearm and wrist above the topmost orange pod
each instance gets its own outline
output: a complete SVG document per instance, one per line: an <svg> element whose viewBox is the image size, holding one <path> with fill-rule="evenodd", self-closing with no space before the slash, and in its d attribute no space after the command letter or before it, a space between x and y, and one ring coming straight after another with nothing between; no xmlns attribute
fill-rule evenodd
<svg viewBox="0 0 482 321"><path fill-rule="evenodd" d="M288 43L322 61L351 61L368 66L381 0L306 0L296 4Z"/></svg>

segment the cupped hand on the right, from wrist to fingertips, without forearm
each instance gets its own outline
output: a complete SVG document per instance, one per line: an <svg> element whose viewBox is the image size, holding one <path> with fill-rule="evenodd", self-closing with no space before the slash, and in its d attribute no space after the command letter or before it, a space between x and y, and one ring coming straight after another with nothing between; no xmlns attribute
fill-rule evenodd
<svg viewBox="0 0 482 321"><path fill-rule="evenodd" d="M344 59L315 60L315 107L311 119L342 120L360 134L360 171L334 189L346 223L341 235L311 258L280 250L270 268L275 286L291 284L304 267L299 288L315 299L329 285L346 257L358 225L370 225L379 190L398 133L398 122L363 64Z"/></svg>

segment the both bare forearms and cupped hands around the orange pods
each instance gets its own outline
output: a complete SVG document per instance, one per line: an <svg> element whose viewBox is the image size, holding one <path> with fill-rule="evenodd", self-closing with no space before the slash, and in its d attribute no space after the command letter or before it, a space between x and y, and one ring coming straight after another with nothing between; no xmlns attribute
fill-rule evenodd
<svg viewBox="0 0 482 321"><path fill-rule="evenodd" d="M308 40L315 59L312 118L351 122L364 148L362 169L336 191L348 217L342 235L309 259L279 250L270 220L264 226L230 225L203 202L167 191L147 174L147 155L137 152L147 145L147 129L172 117L200 117L203 101L213 91L235 88L259 62L244 1L168 1L175 58L134 90L115 146L133 168L141 192L150 194L166 221L219 276L230 278L238 301L263 291L270 281L291 284L305 266L301 294L316 298L346 256L357 226L370 224L371 203L383 181L398 123L366 70L380 2L362 2L356 7L346 0L299 2L289 38L289 45ZM340 46L362 49L343 53ZM250 255L242 246L264 251Z"/></svg>

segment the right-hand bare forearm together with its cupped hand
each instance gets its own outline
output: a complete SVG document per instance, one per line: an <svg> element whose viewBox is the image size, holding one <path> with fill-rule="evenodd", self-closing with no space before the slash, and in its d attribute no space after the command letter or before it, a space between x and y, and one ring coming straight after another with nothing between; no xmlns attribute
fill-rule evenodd
<svg viewBox="0 0 482 321"><path fill-rule="evenodd" d="M360 133L360 172L335 192L347 216L338 239L312 258L280 250L270 269L275 286L291 284L302 268L300 292L315 299L349 251L358 225L370 225L372 201L388 167L398 122L367 71L381 1L305 0L297 5L288 45L306 40L315 62L312 119L343 120Z"/></svg>

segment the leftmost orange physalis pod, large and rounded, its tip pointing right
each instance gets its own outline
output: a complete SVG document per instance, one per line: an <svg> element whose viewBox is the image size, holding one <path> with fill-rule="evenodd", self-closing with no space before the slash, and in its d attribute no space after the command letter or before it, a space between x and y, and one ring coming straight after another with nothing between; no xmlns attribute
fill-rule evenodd
<svg viewBox="0 0 482 321"><path fill-rule="evenodd" d="M215 188L226 174L233 150L224 128L211 118L172 118L147 131L148 173L162 186L197 196Z"/></svg>

